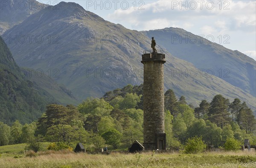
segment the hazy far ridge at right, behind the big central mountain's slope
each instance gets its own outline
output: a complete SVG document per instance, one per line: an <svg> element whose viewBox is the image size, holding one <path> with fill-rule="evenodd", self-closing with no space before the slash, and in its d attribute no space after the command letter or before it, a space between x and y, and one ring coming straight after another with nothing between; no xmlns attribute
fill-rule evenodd
<svg viewBox="0 0 256 168"><path fill-rule="evenodd" d="M142 32L149 38L155 36L157 44L173 56L191 62L198 69L212 70L215 76L256 96L256 61L249 56L238 50L224 48L182 28Z"/></svg>

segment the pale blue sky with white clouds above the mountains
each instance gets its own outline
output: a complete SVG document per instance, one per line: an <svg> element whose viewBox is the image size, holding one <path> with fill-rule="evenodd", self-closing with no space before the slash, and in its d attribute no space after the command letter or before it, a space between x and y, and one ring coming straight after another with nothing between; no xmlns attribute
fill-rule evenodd
<svg viewBox="0 0 256 168"><path fill-rule="evenodd" d="M87 11L132 30L183 28L256 60L256 0L62 1L78 3ZM41 2L56 5L61 1Z"/></svg>

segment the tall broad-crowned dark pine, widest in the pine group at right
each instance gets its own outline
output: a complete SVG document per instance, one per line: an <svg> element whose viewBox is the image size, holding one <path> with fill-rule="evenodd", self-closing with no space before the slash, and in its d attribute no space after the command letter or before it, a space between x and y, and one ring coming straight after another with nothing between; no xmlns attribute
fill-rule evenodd
<svg viewBox="0 0 256 168"><path fill-rule="evenodd" d="M210 103L209 108L209 120L216 123L217 126L223 127L229 123L230 118L228 117L228 99L222 95L215 95Z"/></svg>

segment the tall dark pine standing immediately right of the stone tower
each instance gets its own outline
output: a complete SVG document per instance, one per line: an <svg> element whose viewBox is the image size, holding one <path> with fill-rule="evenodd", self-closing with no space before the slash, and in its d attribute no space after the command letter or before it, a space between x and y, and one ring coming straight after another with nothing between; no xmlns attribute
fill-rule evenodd
<svg viewBox="0 0 256 168"><path fill-rule="evenodd" d="M173 90L167 90L164 94L164 106L166 110L169 110L171 112L171 115L173 115L174 118L177 117L178 112L178 101L177 98L173 92Z"/></svg>

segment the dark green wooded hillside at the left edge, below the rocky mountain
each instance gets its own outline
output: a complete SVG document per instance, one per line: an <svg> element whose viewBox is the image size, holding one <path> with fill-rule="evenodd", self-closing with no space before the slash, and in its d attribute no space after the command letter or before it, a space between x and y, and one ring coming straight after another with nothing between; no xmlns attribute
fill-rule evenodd
<svg viewBox="0 0 256 168"><path fill-rule="evenodd" d="M41 117L47 104L78 104L67 87L41 72L18 67L0 36L0 121L30 123Z"/></svg>

